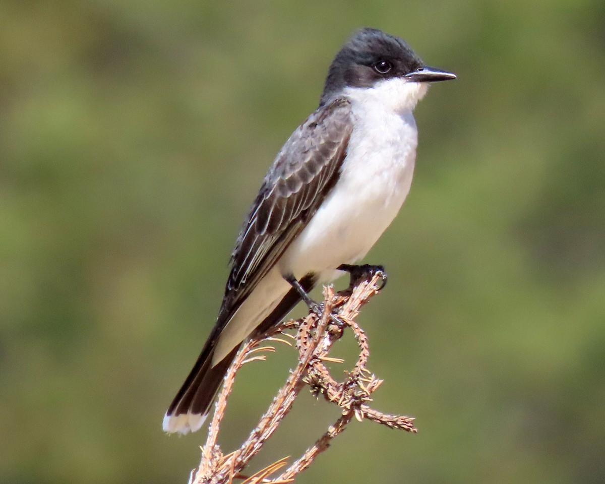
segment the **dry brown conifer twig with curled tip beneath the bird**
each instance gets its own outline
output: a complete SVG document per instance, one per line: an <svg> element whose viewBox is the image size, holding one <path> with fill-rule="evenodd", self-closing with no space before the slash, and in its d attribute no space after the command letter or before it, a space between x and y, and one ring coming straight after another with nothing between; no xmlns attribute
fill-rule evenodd
<svg viewBox="0 0 605 484"><path fill-rule="evenodd" d="M234 479L243 479L244 484L285 484L292 482L295 476L304 471L330 445L330 441L340 434L354 417L367 418L390 428L399 428L415 433L413 417L384 414L368 405L371 394L382 384L382 380L371 374L367 368L370 354L368 340L364 331L355 322L359 310L371 296L379 292L379 280L376 274L371 280L362 280L350 290L335 295L332 287L324 287L323 312L310 312L306 318L287 321L262 338L253 338L245 342L235 361L227 371L223 388L215 404L215 412L209 426L206 443L201 448L201 462L197 470L192 471L189 484L229 484ZM350 328L359 345L359 357L353 370L343 382L330 375L325 361L335 361L328 353L333 342L341 338L345 328ZM235 375L246 362L264 359L262 352L274 352L273 347L260 347L266 341L285 341L276 337L287 329L296 329L296 348L298 364L280 388L257 427L249 434L240 448L223 455L217 444L220 424L224 417L227 399L233 389ZM287 333L283 333L289 336ZM316 396L323 396L342 410L342 415L333 425L310 446L301 457L296 459L278 476L275 474L287 465L289 457L284 457L252 476L243 476L244 468L253 456L258 454L267 439L275 432L280 422L292 409L292 405L304 387L309 385ZM273 477L272 477L273 476Z"/></svg>

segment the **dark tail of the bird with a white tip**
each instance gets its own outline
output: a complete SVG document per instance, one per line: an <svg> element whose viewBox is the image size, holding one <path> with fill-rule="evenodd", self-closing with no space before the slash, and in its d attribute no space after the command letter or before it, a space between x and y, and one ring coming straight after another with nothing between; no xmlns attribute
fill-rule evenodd
<svg viewBox="0 0 605 484"><path fill-rule="evenodd" d="M236 346L231 353L212 366L214 345L212 346L206 344L185 383L168 407L162 424L165 432L195 432L208 417L214 397L239 349L239 346Z"/></svg>

